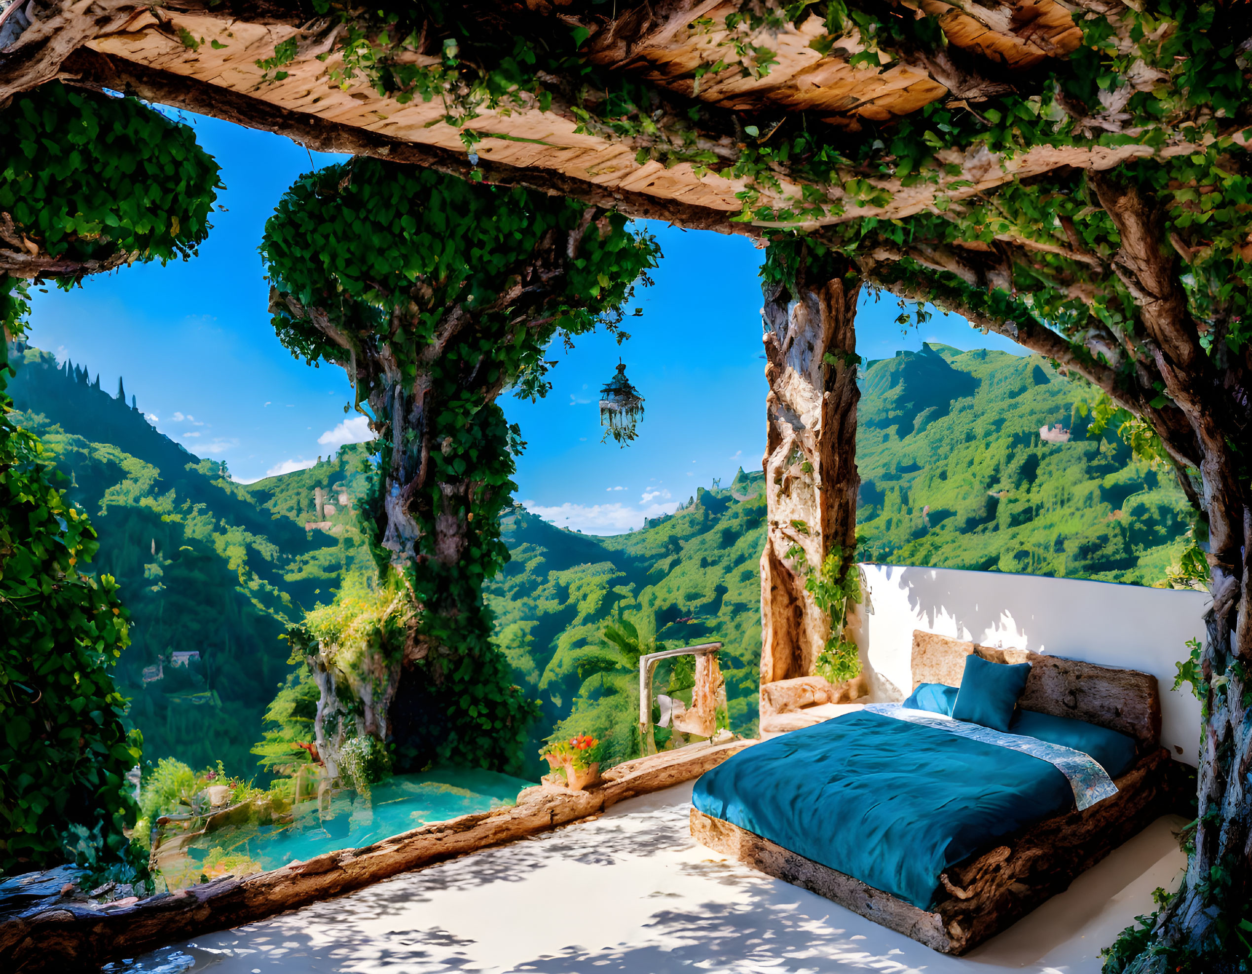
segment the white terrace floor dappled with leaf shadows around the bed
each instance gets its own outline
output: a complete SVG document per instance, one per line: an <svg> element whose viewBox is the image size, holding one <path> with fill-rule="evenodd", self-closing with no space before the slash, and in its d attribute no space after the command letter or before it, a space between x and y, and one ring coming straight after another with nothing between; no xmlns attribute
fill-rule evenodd
<svg viewBox="0 0 1252 974"><path fill-rule="evenodd" d="M110 970L1097 974L1184 864L1167 818L964 958L697 845L691 785Z"/></svg>

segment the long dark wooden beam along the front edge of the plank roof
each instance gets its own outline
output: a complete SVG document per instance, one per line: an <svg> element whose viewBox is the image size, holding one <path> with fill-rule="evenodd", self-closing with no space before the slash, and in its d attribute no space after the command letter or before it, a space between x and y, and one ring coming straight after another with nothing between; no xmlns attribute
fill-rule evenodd
<svg viewBox="0 0 1252 974"><path fill-rule="evenodd" d="M356 125L329 121L312 113L293 111L240 91L111 58L90 48L74 51L63 64L60 78L70 84L95 90L124 91L135 98L232 121L249 129L272 131L322 153L368 155L394 163L408 163L467 180L481 177L483 183L491 185L520 185L553 195L571 197L593 207L616 209L632 219L666 220L689 229L741 234L756 239L762 234L756 227L732 223L730 218L737 210L710 209L647 193L601 187L585 179L573 179L555 169L542 167L520 169L485 156L480 156L475 165L464 153L392 139Z"/></svg>

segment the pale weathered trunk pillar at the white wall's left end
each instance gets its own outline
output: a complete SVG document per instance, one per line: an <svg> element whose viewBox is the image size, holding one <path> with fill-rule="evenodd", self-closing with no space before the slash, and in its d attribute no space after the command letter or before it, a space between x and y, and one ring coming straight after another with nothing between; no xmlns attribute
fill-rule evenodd
<svg viewBox="0 0 1252 974"><path fill-rule="evenodd" d="M761 684L809 676L833 635L805 588L834 558L856 553L856 299L850 262L809 248L767 263L765 284L765 497L761 555ZM770 268L777 273L770 273ZM771 279L772 278L772 279Z"/></svg>

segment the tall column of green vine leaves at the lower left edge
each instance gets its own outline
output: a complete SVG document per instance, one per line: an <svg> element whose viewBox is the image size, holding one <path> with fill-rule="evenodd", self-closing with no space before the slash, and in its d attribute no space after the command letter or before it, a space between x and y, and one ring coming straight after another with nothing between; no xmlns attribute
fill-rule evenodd
<svg viewBox="0 0 1252 974"><path fill-rule="evenodd" d="M4 327L21 334L20 292L0 280ZM4 346L0 346L0 356ZM0 874L60 863L145 875L124 830L136 806L125 774L139 732L110 667L129 642L111 576L84 571L99 547L65 500L39 439L5 416L0 362Z"/></svg>

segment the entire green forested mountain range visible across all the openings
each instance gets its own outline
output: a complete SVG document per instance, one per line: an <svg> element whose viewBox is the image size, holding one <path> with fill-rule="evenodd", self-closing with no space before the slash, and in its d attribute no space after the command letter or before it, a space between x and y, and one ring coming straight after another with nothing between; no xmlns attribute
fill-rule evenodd
<svg viewBox="0 0 1252 974"><path fill-rule="evenodd" d="M118 577L131 615L118 674L145 760L220 759L254 774L249 749L292 671L279 635L329 602L346 570L371 571L356 513L367 449L244 486L156 432L120 388L110 396L36 349L19 364L18 422L43 438L91 516L100 552L90 567ZM1074 411L1087 394L1043 359L1003 352L926 346L866 363L861 560L1162 583L1183 547L1186 500L1116 431L1087 437ZM1055 424L1068 442L1040 438ZM761 487L760 473L740 471L730 488L700 490L617 537L557 528L521 507L506 516L512 561L486 597L496 643L542 706L532 752L553 729L607 736L613 757L630 751L634 682L596 650L618 618L642 651L721 640L731 726L752 730ZM170 666L179 651L200 662ZM162 677L145 681L158 664Z"/></svg>

